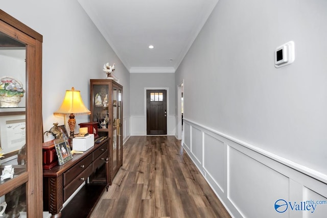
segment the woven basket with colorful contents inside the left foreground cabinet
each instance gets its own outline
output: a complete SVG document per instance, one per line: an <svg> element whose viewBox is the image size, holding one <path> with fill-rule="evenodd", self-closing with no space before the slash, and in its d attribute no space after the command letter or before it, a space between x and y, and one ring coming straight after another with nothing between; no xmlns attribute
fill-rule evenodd
<svg viewBox="0 0 327 218"><path fill-rule="evenodd" d="M21 82L13 77L0 78L0 107L18 107L25 90Z"/></svg>

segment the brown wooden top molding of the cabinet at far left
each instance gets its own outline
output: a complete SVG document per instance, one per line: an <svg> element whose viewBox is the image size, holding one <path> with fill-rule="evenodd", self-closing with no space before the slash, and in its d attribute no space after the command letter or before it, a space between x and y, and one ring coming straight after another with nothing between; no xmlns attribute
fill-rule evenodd
<svg viewBox="0 0 327 218"><path fill-rule="evenodd" d="M39 34L38 32L34 31L33 29L26 26L24 23L20 22L16 18L10 16L6 12L0 9L0 20L3 20L4 22L8 23L10 26L18 29L21 32L26 33L30 37L43 42L43 36Z"/></svg>

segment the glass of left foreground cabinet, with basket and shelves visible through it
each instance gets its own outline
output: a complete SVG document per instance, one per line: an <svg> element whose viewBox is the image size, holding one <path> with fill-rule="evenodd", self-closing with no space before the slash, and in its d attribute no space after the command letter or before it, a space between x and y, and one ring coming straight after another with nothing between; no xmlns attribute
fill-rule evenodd
<svg viewBox="0 0 327 218"><path fill-rule="evenodd" d="M6 189L14 183L12 180L27 172L25 59L26 44L0 33L1 189ZM18 217L20 211L26 211L26 183L2 195L0 204L3 202L7 204L6 215Z"/></svg>

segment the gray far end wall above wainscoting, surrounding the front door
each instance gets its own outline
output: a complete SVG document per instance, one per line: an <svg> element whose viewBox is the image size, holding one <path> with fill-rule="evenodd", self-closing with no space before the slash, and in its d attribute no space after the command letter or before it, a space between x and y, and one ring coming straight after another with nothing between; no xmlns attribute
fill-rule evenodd
<svg viewBox="0 0 327 218"><path fill-rule="evenodd" d="M168 115L175 114L175 75L174 74L130 74L131 115L145 115L144 88L168 87Z"/></svg>

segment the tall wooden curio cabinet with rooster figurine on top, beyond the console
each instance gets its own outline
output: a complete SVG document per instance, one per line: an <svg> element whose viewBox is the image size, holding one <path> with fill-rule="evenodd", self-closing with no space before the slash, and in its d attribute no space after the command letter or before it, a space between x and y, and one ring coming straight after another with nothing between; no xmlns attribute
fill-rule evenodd
<svg viewBox="0 0 327 218"><path fill-rule="evenodd" d="M90 80L91 122L98 122L99 136L110 138L110 184L123 165L123 86L110 79Z"/></svg>

